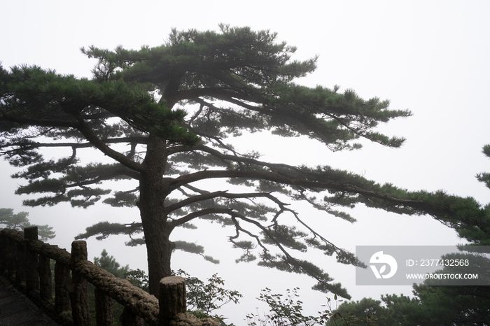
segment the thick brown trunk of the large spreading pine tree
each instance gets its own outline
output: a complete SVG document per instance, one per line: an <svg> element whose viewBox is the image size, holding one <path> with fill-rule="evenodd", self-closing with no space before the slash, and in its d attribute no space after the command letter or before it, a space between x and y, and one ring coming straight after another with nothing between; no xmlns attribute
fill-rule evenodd
<svg viewBox="0 0 490 326"><path fill-rule="evenodd" d="M175 244L169 240L173 227L167 223L165 197L169 194L163 179L167 164L166 141L150 135L139 180L139 211L148 253L150 294L158 297L159 282L171 276L170 257Z"/></svg>

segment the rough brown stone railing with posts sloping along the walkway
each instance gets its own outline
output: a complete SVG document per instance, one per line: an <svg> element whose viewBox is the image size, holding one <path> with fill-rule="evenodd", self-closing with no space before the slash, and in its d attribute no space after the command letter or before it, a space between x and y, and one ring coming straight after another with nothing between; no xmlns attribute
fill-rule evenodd
<svg viewBox="0 0 490 326"><path fill-rule="evenodd" d="M55 261L54 295L50 260ZM91 325L88 282L95 288L97 326L113 325L113 299L125 307L120 318L123 326L219 325L186 313L184 278L162 278L157 299L89 262L85 241L73 241L70 254L38 240L37 227L26 227L25 232L0 231L0 274L24 289L61 325Z"/></svg>

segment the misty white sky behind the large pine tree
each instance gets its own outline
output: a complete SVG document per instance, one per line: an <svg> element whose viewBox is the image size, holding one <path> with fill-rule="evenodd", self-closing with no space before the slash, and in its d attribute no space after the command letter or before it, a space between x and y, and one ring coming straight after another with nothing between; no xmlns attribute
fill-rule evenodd
<svg viewBox="0 0 490 326"><path fill-rule="evenodd" d="M402 148L365 143L362 150L330 153L304 139L264 139L253 136L244 148L260 150L263 160L290 164L326 164L363 173L379 183L390 182L409 190L446 190L450 194L489 202L489 190L475 174L490 171L482 146L490 143L487 94L490 90L489 1L3 1L0 61L8 68L36 64L59 73L90 77L94 61L80 53L82 46L140 48L160 45L172 27L218 29L223 22L279 33L280 41L297 46L294 59L319 55L318 69L300 83L341 86L361 97L391 100L391 108L408 108L414 116L381 126L388 135L405 136ZM254 138L255 137L255 138ZM291 155L291 148L295 153ZM28 211L31 222L55 227L50 241L70 248L76 234L100 220L132 222L139 214L99 204L87 210L69 205L27 208L13 192L19 180L15 170L0 162L0 207ZM429 217L408 217L359 208L353 225L304 208L321 233L338 246L354 250L360 245L454 245L455 232ZM230 230L207 228L191 239L206 245L207 253L221 260L213 265L198 256L176 253L174 269L208 278L218 272L226 285L241 291L240 306L221 313L235 325L255 312L255 297L266 286L273 292L300 287L306 313L325 304L325 295L309 290L306 276L284 274L235 264L240 253L230 249ZM209 233L211 232L211 233ZM144 248L123 246L126 239L89 239L89 257L106 248L121 264L146 269ZM228 259L227 259L228 257ZM354 300L379 299L381 294L404 293L411 287L356 286L353 267L340 266L323 255L311 254Z"/></svg>

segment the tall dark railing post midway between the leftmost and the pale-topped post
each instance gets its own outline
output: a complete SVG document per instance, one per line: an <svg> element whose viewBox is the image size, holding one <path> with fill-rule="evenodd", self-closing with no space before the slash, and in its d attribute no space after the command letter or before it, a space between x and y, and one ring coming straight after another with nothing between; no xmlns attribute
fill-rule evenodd
<svg viewBox="0 0 490 326"><path fill-rule="evenodd" d="M90 326L90 309L88 305L88 282L78 271L78 265L87 261L87 243L73 241L71 243L71 315L73 325Z"/></svg>

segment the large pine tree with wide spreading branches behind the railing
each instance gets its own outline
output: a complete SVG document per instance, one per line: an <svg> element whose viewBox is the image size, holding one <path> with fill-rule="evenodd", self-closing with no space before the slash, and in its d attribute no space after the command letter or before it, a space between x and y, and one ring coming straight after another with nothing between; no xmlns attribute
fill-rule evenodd
<svg viewBox="0 0 490 326"><path fill-rule="evenodd" d="M361 99L353 90L340 93L337 86L295 83L314 71L316 57L291 59L295 48L277 42L269 31L224 25L219 32L173 30L155 48L111 51L92 46L82 52L98 59L92 79L37 66L0 69L1 155L23 168L14 178L29 181L17 194L43 194L27 199L27 206L69 201L87 207L101 199L112 206L137 206L141 222L101 222L79 237L128 234L128 244L145 243L152 294L158 293L160 278L172 272L174 249L204 256L194 243L169 241L176 227L195 227L196 219L234 228L229 241L244 250L240 261L258 255L262 266L308 274L318 281L317 290L349 297L325 271L293 256L293 250L317 248L335 254L339 262L356 264L353 254L309 227L291 201L349 221L353 218L337 206L365 204L441 220L465 218L458 215L463 208L480 209L471 199L410 193L330 166L265 162L259 153L239 153L228 144L227 139L243 132L304 136L330 150L358 149L361 138L388 147L404 141L375 128L408 117L409 111L391 110L388 101L377 98ZM43 148L70 152L47 160ZM80 153L86 148L99 150L112 162L104 158L84 164ZM294 155L294 148L289 151ZM103 188L108 181L123 179L137 185ZM221 189L215 190L218 183ZM290 217L300 227L288 225ZM134 236L141 232L143 237Z"/></svg>

